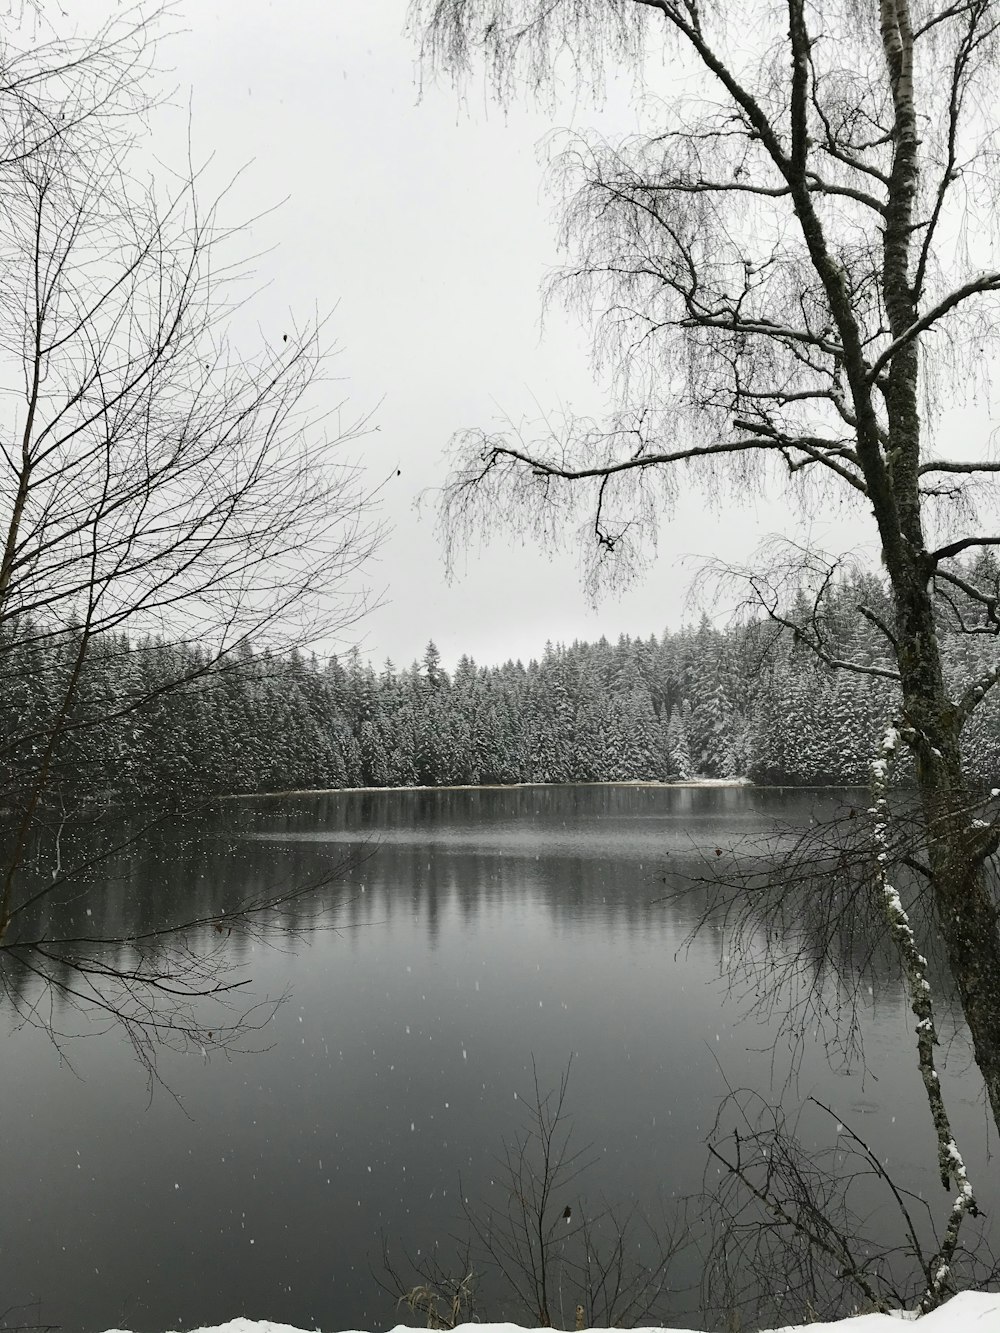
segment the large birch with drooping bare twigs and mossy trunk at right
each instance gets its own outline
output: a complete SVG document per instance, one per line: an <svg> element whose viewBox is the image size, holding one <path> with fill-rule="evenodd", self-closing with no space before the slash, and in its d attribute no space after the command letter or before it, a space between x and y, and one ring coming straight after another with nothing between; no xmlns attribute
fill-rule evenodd
<svg viewBox="0 0 1000 1333"><path fill-rule="evenodd" d="M971 632L1000 629L996 583L957 565L1000 545L1000 463L945 415L988 404L996 352L997 5L416 0L411 20L427 68L461 80L481 60L501 100L623 63L645 99L644 133L569 135L553 159L553 292L591 321L615 409L460 432L448 540L496 516L543 536L580 521L599 572L641 564L699 481L868 517L891 615L859 611L887 661L829 664L900 692L921 873L1000 1125L1000 825L973 817L961 756L1000 653L949 690L936 624L961 595Z"/></svg>

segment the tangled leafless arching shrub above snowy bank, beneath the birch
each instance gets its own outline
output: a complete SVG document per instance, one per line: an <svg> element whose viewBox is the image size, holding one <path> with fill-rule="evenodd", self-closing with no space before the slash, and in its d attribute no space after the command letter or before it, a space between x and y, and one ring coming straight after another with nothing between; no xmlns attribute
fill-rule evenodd
<svg viewBox="0 0 1000 1333"><path fill-rule="evenodd" d="M960 1245L957 1230L939 1228L931 1201L893 1180L829 1106L811 1098L803 1113L836 1125L829 1149L808 1149L797 1120L759 1093L732 1090L719 1109L701 1214L707 1317L928 1310L959 1288L996 1281L983 1225Z"/></svg>

